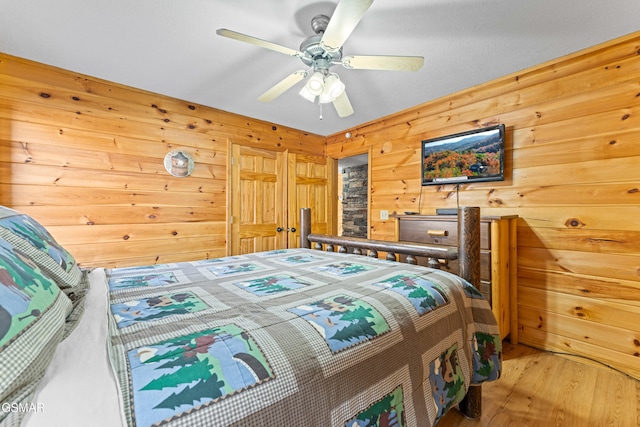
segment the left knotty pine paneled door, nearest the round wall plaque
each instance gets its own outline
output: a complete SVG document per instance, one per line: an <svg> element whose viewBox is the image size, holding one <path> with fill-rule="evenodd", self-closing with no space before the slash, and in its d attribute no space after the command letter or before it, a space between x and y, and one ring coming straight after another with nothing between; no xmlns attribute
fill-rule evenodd
<svg viewBox="0 0 640 427"><path fill-rule="evenodd" d="M233 144L232 153L231 254L286 248L286 152Z"/></svg>

